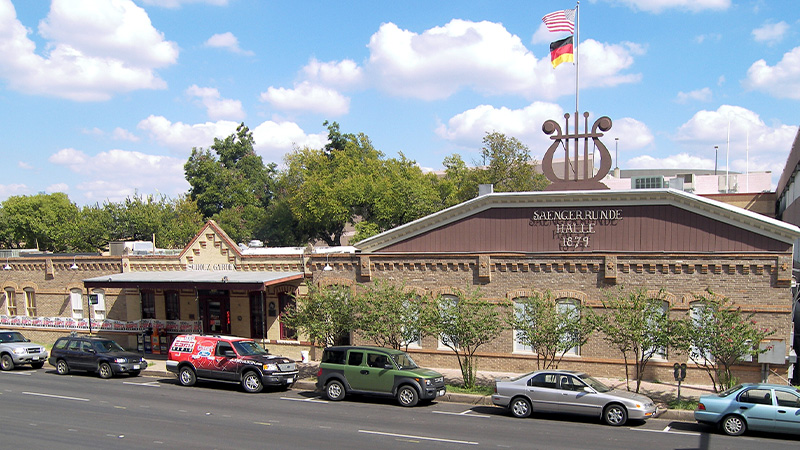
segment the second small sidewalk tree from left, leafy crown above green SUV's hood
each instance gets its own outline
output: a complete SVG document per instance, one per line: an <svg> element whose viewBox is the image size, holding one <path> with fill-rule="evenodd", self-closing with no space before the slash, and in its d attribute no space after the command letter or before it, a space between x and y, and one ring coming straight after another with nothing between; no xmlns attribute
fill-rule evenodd
<svg viewBox="0 0 800 450"><path fill-rule="evenodd" d="M422 302L402 285L379 280L358 295L357 333L382 347L407 350L421 338Z"/></svg>

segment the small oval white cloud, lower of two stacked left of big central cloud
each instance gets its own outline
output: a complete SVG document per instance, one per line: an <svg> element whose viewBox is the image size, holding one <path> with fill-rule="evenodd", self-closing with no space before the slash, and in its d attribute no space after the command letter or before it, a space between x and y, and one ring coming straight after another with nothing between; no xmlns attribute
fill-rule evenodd
<svg viewBox="0 0 800 450"><path fill-rule="evenodd" d="M339 92L304 81L294 89L270 86L259 96L280 110L310 111L327 116L341 116L350 110L350 98Z"/></svg>

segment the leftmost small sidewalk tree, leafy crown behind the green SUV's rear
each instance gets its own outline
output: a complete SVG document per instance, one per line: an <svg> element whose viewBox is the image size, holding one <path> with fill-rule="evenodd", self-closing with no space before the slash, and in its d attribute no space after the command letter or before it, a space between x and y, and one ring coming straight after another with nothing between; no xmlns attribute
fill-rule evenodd
<svg viewBox="0 0 800 450"><path fill-rule="evenodd" d="M309 285L308 294L298 297L280 321L308 336L313 345L328 347L356 329L357 315L350 288Z"/></svg>

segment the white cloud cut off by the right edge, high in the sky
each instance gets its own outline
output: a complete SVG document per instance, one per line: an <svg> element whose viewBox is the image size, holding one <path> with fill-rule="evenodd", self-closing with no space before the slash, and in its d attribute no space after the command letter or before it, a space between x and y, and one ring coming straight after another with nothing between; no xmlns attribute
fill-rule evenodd
<svg viewBox="0 0 800 450"><path fill-rule="evenodd" d="M747 69L745 87L766 92L776 98L800 100L800 47L785 53L774 66L760 59Z"/></svg>

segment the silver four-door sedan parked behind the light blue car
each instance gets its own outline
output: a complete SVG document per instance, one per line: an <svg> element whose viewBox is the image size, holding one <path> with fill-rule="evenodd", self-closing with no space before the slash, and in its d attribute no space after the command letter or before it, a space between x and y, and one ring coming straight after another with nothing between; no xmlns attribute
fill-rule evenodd
<svg viewBox="0 0 800 450"><path fill-rule="evenodd" d="M612 389L583 372L541 370L510 379L497 379L492 403L508 408L514 417L531 412L581 414L602 418L612 426L629 419L649 419L656 405L647 396Z"/></svg>

